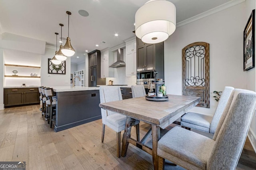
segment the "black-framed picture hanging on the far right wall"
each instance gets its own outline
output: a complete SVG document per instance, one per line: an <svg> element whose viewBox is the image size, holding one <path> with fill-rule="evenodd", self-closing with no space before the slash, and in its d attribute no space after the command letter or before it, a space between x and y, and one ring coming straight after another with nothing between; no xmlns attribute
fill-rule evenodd
<svg viewBox="0 0 256 170"><path fill-rule="evenodd" d="M244 71L255 67L255 10L244 28Z"/></svg>

